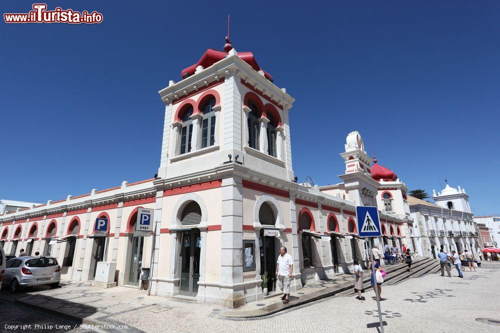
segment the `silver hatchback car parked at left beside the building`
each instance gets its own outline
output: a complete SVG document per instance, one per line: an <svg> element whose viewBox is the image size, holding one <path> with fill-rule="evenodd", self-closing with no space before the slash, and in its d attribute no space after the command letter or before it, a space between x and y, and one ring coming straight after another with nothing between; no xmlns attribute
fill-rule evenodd
<svg viewBox="0 0 500 333"><path fill-rule="evenodd" d="M12 293L24 287L49 285L56 288L61 279L61 267L53 257L17 257L5 265L2 286Z"/></svg>

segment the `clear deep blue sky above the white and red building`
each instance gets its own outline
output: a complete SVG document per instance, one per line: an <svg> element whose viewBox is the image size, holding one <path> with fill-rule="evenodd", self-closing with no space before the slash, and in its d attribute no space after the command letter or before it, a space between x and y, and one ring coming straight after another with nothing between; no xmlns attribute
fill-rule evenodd
<svg viewBox="0 0 500 333"><path fill-rule="evenodd" d="M222 48L230 13L234 48L296 99L299 181L339 182L338 154L358 130L410 189L438 191L439 174L476 215L500 214L500 1L223 2L48 1L103 22L2 18L0 198L45 202L151 177L157 91ZM2 1L1 12L32 3Z"/></svg>

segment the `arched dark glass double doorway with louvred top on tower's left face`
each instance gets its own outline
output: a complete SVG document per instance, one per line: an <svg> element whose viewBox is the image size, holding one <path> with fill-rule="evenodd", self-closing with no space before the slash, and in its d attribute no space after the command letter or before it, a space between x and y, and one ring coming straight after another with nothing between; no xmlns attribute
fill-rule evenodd
<svg viewBox="0 0 500 333"><path fill-rule="evenodd" d="M201 208L196 201L189 201L179 216L181 227L190 227L180 235L179 294L195 297L198 293L201 254L200 231L194 226L201 223Z"/></svg>

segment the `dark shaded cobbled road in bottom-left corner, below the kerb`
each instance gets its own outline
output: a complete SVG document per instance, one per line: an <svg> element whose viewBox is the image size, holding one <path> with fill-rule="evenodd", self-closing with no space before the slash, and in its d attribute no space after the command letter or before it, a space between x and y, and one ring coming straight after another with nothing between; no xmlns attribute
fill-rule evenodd
<svg viewBox="0 0 500 333"><path fill-rule="evenodd" d="M5 332L94 332L80 329L81 322L69 320L60 316L51 315L42 310L0 302L0 333ZM18 327L16 327L18 326Z"/></svg>

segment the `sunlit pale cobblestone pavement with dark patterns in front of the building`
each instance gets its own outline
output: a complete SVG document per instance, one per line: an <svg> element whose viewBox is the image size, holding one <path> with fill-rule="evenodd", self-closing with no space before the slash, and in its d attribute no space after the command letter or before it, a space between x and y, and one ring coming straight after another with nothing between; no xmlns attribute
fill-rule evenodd
<svg viewBox="0 0 500 333"><path fill-rule="evenodd" d="M455 273L456 274L456 273ZM382 285L385 332L498 332L500 263L483 263L464 278L439 274ZM44 307L60 307L108 324L127 324L127 332L377 332L376 302L330 297L264 318L229 320L215 305L146 297L144 291L116 287L97 289L70 283L60 289L15 296ZM0 298L12 297L3 291ZM258 302L256 303L258 304ZM483 319L483 320L480 320ZM489 322L488 322L489 320ZM495 322L496 321L496 322Z"/></svg>

